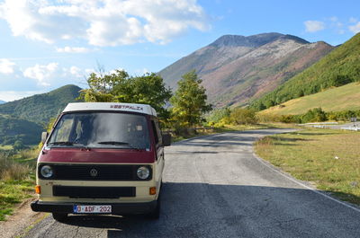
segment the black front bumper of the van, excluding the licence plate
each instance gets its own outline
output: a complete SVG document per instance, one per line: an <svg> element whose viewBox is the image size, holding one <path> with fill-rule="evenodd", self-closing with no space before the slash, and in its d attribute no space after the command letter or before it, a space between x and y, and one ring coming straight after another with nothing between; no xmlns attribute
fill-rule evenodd
<svg viewBox="0 0 360 238"><path fill-rule="evenodd" d="M31 202L31 209L34 212L50 212L50 213L67 213L75 214L75 205L111 205L112 215L133 215L133 214L147 214L157 207L157 200L141 203L58 203L58 202L42 202L36 200ZM98 214L98 213L96 213Z"/></svg>

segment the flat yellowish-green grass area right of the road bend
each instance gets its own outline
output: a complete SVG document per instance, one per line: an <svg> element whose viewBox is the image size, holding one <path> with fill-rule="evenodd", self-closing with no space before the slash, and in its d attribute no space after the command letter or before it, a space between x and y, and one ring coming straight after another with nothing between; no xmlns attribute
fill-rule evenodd
<svg viewBox="0 0 360 238"><path fill-rule="evenodd" d="M265 137L256 153L317 189L360 205L360 133L306 129Z"/></svg>

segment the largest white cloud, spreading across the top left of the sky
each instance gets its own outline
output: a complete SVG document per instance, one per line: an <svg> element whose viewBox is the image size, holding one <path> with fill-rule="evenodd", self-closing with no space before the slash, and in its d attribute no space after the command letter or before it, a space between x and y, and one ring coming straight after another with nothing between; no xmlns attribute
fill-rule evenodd
<svg viewBox="0 0 360 238"><path fill-rule="evenodd" d="M47 43L85 39L95 46L166 43L191 28L210 29L196 0L5 0L0 17L14 36Z"/></svg>

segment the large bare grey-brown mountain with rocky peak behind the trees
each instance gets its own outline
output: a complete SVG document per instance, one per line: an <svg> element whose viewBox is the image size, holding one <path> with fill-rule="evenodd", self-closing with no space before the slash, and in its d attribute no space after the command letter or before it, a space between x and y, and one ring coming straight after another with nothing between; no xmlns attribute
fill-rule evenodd
<svg viewBox="0 0 360 238"><path fill-rule="evenodd" d="M209 101L217 107L245 105L284 84L332 50L292 35L225 35L160 72L173 89L181 75L195 70Z"/></svg>

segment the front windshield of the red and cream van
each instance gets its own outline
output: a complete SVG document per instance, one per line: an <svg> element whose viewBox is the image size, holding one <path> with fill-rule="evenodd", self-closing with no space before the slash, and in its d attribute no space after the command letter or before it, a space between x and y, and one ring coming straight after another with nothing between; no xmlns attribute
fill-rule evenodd
<svg viewBox="0 0 360 238"><path fill-rule="evenodd" d="M141 115L112 112L64 114L47 145L149 149L147 119Z"/></svg>

